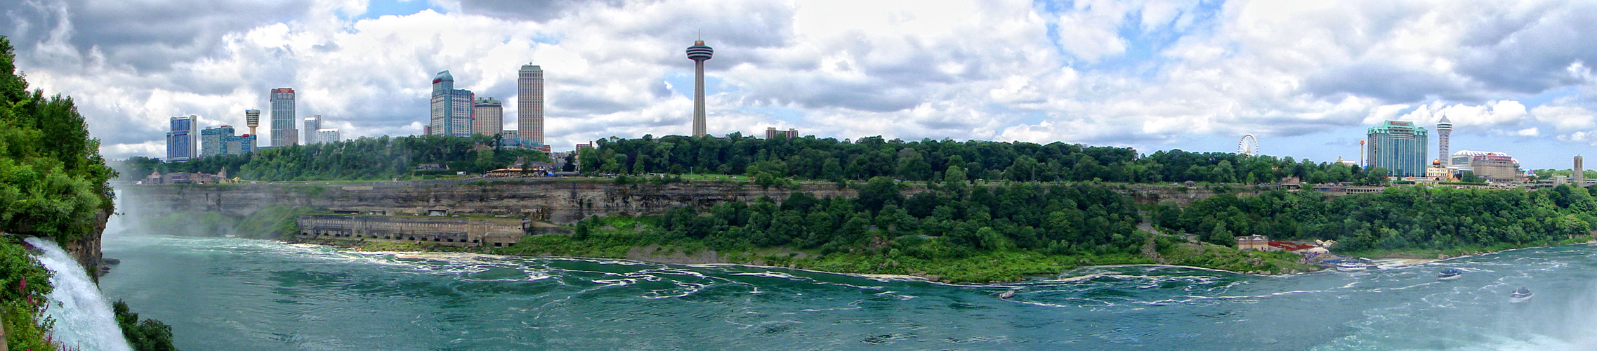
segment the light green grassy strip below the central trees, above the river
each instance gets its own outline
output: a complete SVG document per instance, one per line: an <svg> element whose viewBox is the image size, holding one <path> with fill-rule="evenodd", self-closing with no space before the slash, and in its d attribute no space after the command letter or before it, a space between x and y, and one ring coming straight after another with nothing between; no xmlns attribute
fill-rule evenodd
<svg viewBox="0 0 1597 351"><path fill-rule="evenodd" d="M640 247L655 247L655 257L671 254L699 254L712 249L712 243L690 238L671 238L658 230L652 217L605 217L600 228L585 238L573 235L540 235L522 238L509 247L493 247L505 255L559 255L589 258L629 258ZM1239 273L1287 274L1318 270L1298 263L1300 255L1290 252L1244 252L1223 246L1179 244L1166 236L1159 246L1159 258L1140 254L1060 255L1040 250L1009 249L981 250L953 258L920 258L888 252L830 252L791 247L720 246L714 263L767 265L800 270L816 270L851 274L904 274L944 282L1005 282L1028 276L1051 276L1067 270L1092 265L1150 265L1169 263L1226 270ZM730 247L730 249L728 249ZM634 257L644 258L648 257ZM706 262L712 263L712 262Z"/></svg>

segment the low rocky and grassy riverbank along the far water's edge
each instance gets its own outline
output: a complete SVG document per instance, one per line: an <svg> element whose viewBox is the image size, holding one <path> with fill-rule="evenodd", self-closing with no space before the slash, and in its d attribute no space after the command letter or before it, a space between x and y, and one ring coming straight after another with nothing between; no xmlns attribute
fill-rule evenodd
<svg viewBox="0 0 1597 351"><path fill-rule="evenodd" d="M1314 271L1289 252L1244 252L1207 244L1156 241L1151 255L1052 255L1036 250L982 250L963 257L918 258L896 252L819 252L789 247L712 249L703 241L663 239L647 233L596 233L527 236L511 247L454 247L420 243L294 241L350 247L363 252L470 252L517 257L618 258L668 265L747 265L856 274L867 278L915 278L934 282L1016 282L1057 276L1084 266L1169 265L1238 274L1292 274Z"/></svg>

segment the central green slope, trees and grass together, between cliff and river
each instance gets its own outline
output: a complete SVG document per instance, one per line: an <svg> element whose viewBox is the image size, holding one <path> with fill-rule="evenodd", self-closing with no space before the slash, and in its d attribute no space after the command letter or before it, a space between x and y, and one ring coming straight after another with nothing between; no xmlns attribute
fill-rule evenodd
<svg viewBox="0 0 1597 351"><path fill-rule="evenodd" d="M591 217L569 236L529 236L495 252L671 262L699 257L695 260L950 282L1016 281L1083 265L1313 270L1295 263L1292 254L1241 252L1140 231L1131 198L1107 185L973 185L961 169L944 174L941 185L912 188L874 177L854 185L856 198L797 191L779 203L762 198L707 209L676 207L663 215Z"/></svg>

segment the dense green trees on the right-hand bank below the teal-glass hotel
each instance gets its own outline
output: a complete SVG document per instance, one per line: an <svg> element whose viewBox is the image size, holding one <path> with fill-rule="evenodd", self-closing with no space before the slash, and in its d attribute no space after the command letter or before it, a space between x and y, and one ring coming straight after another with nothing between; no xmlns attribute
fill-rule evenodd
<svg viewBox="0 0 1597 351"><path fill-rule="evenodd" d="M1597 201L1586 188L1536 191L1397 187L1327 198L1318 191L1220 195L1185 209L1161 206L1161 227L1228 244L1234 235L1337 239L1340 250L1492 249L1589 236Z"/></svg>

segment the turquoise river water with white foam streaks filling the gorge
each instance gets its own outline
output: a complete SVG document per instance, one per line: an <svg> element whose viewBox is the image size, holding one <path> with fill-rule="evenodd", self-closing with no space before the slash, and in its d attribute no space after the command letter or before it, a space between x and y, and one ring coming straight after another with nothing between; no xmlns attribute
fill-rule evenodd
<svg viewBox="0 0 1597 351"><path fill-rule="evenodd" d="M364 254L107 233L101 286L182 349L1594 349L1592 246L1369 273L1118 266L1005 286ZM1464 273L1436 281L1444 266ZM1525 286L1527 303L1508 303ZM1011 300L1003 290L1017 289Z"/></svg>

